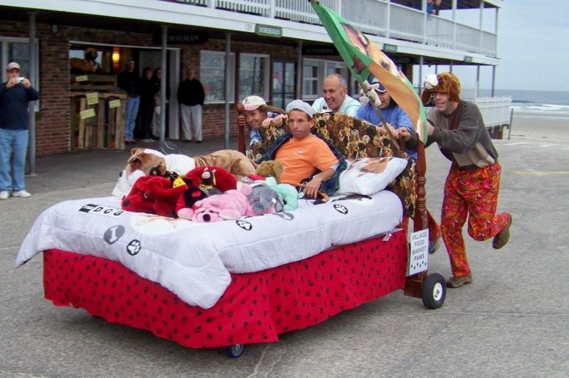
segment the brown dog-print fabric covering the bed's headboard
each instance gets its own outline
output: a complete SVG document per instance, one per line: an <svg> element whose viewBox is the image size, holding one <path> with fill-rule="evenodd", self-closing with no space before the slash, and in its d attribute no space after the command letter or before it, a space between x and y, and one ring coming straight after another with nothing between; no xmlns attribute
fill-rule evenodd
<svg viewBox="0 0 569 378"><path fill-rule="evenodd" d="M275 126L271 121L269 126L260 128L262 141L251 146L247 151L248 158L257 161L280 136L285 134L286 129L288 129L287 119L283 121L282 126ZM317 113L314 115L312 132L333 144L349 160L384 156L406 158L407 168L393 183L390 183L388 189L400 198L405 215L413 216L417 199L415 162L405 151L398 153L389 137L379 134L374 124L339 112Z"/></svg>

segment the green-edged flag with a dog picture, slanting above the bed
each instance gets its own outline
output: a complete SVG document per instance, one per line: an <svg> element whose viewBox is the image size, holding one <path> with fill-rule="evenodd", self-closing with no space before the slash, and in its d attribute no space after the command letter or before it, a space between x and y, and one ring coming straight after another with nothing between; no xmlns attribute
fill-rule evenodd
<svg viewBox="0 0 569 378"><path fill-rule="evenodd" d="M309 2L352 74L359 82L366 81L370 74L377 77L389 95L407 113L421 141L426 143L427 117L413 84L403 72L397 70L393 60L349 21L317 0Z"/></svg>

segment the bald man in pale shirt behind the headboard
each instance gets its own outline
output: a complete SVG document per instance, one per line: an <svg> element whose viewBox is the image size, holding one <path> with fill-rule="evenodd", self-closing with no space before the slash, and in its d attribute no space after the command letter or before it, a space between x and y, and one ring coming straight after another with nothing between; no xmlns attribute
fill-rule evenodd
<svg viewBox="0 0 569 378"><path fill-rule="evenodd" d="M317 113L341 112L356 117L361 107L357 99L348 95L348 84L340 74L333 73L322 82L323 97L316 99L312 107Z"/></svg>

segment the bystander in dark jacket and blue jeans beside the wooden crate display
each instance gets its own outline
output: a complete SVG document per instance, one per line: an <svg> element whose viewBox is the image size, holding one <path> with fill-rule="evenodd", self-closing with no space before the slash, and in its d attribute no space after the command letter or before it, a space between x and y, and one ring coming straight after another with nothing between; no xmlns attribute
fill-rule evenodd
<svg viewBox="0 0 569 378"><path fill-rule="evenodd" d="M134 124L137 121L138 108L140 106L140 88L139 77L134 72L134 60L127 60L127 68L119 73L117 85L129 95L124 116L124 143L135 144L137 142L134 141Z"/></svg>

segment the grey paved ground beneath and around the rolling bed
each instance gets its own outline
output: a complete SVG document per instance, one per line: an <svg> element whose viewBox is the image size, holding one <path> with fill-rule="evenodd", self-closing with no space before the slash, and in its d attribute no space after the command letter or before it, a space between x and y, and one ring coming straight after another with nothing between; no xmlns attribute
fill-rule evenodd
<svg viewBox="0 0 569 378"><path fill-rule="evenodd" d="M568 143L569 119L525 116L514 118L510 140L496 141L511 241L495 251L467 238L474 283L450 290L440 310L396 292L280 342L250 345L238 360L43 299L41 258L14 269L23 237L56 202L109 195L127 152L40 157L27 178L33 197L0 202L0 377L567 377ZM196 155L223 140L181 148ZM427 156L437 215L449 164L434 146ZM444 247L430 271L450 275Z"/></svg>

